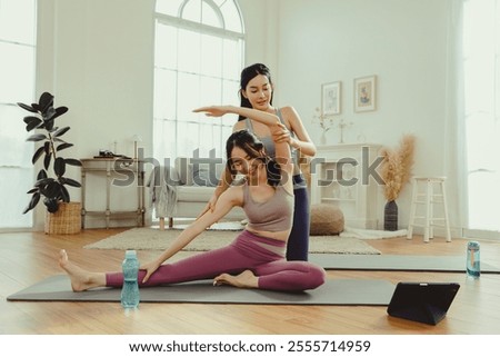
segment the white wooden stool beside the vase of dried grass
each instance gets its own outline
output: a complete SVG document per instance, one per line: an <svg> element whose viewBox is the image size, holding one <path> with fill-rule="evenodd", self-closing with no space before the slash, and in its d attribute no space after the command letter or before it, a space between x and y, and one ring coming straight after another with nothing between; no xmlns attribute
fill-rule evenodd
<svg viewBox="0 0 500 357"><path fill-rule="evenodd" d="M413 177L408 239L413 236L413 227L423 227L423 241L429 242L429 238L434 237L433 228L443 227L447 241L451 241L444 181L446 177ZM420 191L420 187L423 187L424 190ZM423 206L423 216L417 216L418 205ZM434 205L442 205L444 217L433 216ZM416 224L417 220L419 224Z"/></svg>

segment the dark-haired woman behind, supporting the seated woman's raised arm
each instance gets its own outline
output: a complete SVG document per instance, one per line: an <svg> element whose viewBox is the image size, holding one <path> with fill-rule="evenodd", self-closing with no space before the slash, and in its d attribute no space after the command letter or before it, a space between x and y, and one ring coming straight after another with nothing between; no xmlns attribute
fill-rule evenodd
<svg viewBox="0 0 500 357"><path fill-rule="evenodd" d="M293 226L287 246L287 260L308 260L309 197L306 180L300 170L299 159L301 153L309 157L314 156L316 146L312 143L293 107L276 108L272 106L273 89L271 72L264 65L256 63L241 71L241 107L278 116L283 130L280 140L288 142L292 150L292 156L294 157L293 192L296 196L296 205ZM266 152L270 157L274 157L274 142L268 126L240 115L238 122L233 126L233 131L241 129L248 129L250 132L253 132L264 143ZM213 210L217 199L231 185L231 175L226 171L219 180L219 185L207 209Z"/></svg>

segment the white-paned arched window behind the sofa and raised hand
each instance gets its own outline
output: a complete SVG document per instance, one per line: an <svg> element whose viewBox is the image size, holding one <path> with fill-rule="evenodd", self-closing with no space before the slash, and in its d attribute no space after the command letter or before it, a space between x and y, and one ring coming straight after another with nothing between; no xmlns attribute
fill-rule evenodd
<svg viewBox="0 0 500 357"><path fill-rule="evenodd" d="M192 110L239 105L244 31L234 0L157 0L153 156L224 157L234 120ZM213 155L213 152L212 152Z"/></svg>

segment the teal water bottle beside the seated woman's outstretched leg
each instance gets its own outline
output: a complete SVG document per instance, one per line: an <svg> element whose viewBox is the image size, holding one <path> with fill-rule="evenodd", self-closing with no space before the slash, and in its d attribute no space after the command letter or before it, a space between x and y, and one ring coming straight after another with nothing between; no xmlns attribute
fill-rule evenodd
<svg viewBox="0 0 500 357"><path fill-rule="evenodd" d="M127 250L121 265L123 269L123 287L121 288L121 305L124 308L137 308L140 294L138 284L139 260L136 250Z"/></svg>

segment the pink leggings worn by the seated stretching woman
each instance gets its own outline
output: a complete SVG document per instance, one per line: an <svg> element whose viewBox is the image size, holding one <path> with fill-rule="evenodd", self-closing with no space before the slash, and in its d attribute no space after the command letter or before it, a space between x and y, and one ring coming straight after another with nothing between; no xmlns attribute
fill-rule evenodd
<svg viewBox="0 0 500 357"><path fill-rule="evenodd" d="M213 279L222 272L237 275L247 269L259 278L259 288L299 291L314 289L324 282L324 269L308 261L287 261L286 242L259 237L243 230L229 246L164 264L146 284L139 271L140 286L158 286L192 280ZM121 287L121 272L107 272L108 287Z"/></svg>

